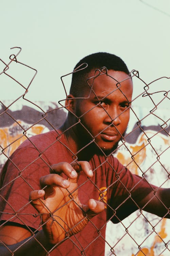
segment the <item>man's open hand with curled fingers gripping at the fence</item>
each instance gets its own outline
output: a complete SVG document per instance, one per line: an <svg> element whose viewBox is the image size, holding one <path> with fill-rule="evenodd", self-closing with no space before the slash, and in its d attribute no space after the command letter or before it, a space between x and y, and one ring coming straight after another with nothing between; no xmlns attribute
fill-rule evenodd
<svg viewBox="0 0 170 256"><path fill-rule="evenodd" d="M93 176L90 164L86 161L72 165L67 162L57 163L51 166L51 174L41 177L42 190L30 193L31 204L41 215L43 231L51 244L80 232L89 219L104 210L103 202L94 199L90 199L87 205L81 204L77 189L80 171L87 177Z"/></svg>

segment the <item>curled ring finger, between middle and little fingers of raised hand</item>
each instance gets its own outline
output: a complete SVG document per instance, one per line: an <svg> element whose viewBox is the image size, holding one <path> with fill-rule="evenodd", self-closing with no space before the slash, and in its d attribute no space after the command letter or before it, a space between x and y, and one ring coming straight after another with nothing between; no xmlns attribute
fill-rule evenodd
<svg viewBox="0 0 170 256"><path fill-rule="evenodd" d="M63 188L68 188L70 186L70 182L58 174L48 174L48 175L42 176L39 182L40 182L41 188L47 185L60 186Z"/></svg>

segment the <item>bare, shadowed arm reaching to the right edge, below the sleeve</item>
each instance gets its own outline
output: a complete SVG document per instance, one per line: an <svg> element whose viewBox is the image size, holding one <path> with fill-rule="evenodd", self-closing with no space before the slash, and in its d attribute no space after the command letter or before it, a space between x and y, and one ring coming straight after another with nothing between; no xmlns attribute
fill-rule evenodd
<svg viewBox="0 0 170 256"><path fill-rule="evenodd" d="M127 193L118 198L119 204L114 204L113 211L109 211L109 217L111 217L111 214L113 215L112 222L118 223L138 209L155 214L159 217L170 218L170 189L157 189L155 192L153 189L141 188L140 195L138 191L137 195L135 195L135 193Z"/></svg>

